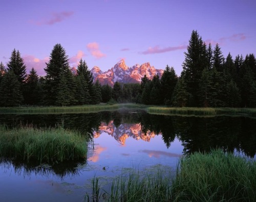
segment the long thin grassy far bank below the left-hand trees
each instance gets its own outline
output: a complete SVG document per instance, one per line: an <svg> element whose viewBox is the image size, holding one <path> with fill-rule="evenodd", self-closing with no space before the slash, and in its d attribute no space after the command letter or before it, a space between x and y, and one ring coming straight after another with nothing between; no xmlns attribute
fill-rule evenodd
<svg viewBox="0 0 256 202"><path fill-rule="evenodd" d="M114 104L114 105L82 105L64 107L1 107L0 114L60 114L60 113L91 113L121 108L144 109L138 104Z"/></svg>

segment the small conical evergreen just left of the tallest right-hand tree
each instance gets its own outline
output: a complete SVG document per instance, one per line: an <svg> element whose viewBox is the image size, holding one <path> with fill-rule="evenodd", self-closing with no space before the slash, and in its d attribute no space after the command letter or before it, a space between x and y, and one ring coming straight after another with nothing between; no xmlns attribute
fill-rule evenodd
<svg viewBox="0 0 256 202"><path fill-rule="evenodd" d="M173 105L175 107L186 107L188 104L188 98L189 93L187 92L187 84L184 76L181 75L174 89Z"/></svg>

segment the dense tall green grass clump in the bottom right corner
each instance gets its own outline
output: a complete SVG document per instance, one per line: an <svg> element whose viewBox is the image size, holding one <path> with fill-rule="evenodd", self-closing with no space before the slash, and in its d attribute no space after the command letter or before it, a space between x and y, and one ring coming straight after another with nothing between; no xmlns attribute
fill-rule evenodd
<svg viewBox="0 0 256 202"><path fill-rule="evenodd" d="M213 150L182 158L172 201L256 201L256 162Z"/></svg>

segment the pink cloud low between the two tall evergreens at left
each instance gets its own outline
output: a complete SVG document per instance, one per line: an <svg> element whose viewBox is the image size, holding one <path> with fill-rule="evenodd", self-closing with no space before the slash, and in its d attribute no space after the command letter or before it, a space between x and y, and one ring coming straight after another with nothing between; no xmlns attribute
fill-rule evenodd
<svg viewBox="0 0 256 202"><path fill-rule="evenodd" d="M24 63L27 66L27 73L34 67L38 75L45 75L46 62L49 62L49 58L38 59L31 55L25 55L23 57Z"/></svg>

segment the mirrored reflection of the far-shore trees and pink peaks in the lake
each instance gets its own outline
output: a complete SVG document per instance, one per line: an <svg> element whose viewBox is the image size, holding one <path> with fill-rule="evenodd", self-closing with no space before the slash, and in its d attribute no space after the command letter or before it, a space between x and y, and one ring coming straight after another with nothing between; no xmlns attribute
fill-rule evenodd
<svg viewBox="0 0 256 202"><path fill-rule="evenodd" d="M256 120L248 117L184 117L151 115L141 110L120 110L90 114L1 115L0 123L16 127L20 123L36 127L79 130L97 138L102 133L125 145L127 138L151 141L161 134L166 147L175 138L182 141L183 154L208 152L211 148L242 152L249 157L256 153Z"/></svg>

